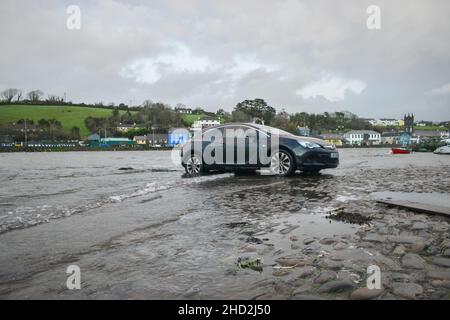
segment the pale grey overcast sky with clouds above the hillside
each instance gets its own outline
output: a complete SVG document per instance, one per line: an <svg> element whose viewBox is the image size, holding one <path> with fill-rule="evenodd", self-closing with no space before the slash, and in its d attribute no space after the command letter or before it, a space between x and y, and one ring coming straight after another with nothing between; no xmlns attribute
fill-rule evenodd
<svg viewBox="0 0 450 320"><path fill-rule="evenodd" d="M0 90L450 120L449 13L448 0L2 0Z"/></svg>

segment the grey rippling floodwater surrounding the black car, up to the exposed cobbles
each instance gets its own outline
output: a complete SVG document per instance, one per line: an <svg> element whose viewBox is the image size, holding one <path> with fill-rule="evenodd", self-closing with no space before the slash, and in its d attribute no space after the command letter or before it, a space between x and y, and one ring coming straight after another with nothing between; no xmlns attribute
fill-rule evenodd
<svg viewBox="0 0 450 320"><path fill-rule="evenodd" d="M333 210L450 190L450 156L340 154L338 169L289 178L186 178L164 151L0 154L0 298L257 298L296 243L355 235ZM262 271L240 269L246 256ZM66 288L69 265L81 290Z"/></svg>

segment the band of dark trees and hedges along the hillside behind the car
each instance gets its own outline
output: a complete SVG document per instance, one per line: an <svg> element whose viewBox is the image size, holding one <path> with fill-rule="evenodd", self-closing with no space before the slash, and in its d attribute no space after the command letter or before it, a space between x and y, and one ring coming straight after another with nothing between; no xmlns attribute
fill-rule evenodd
<svg viewBox="0 0 450 320"><path fill-rule="evenodd" d="M144 101L138 107L130 107L125 104L115 105L111 103L104 105L102 102L95 104L73 104L65 101L65 98L57 95L48 95L44 99L44 93L41 90L32 90L26 94L20 89L6 89L0 92L1 104L54 104L54 105L72 105L85 107L98 107L111 109L111 116L105 118L87 117L85 125L90 132L106 133L107 135L115 136L129 136L133 134L147 134L150 132L166 133L172 127L187 127L190 126L183 114L178 110L186 109L182 104L178 104L175 108L170 105L151 100ZM121 112L122 111L122 112ZM134 112L132 112L134 111ZM299 127L308 127L313 134L320 134L324 132L343 132L350 129L373 129L372 125L363 119L358 118L355 114L349 112L333 112L333 113L288 113L284 109L277 111L276 108L270 106L264 99L256 98L253 100L244 100L239 102L231 112L219 108L216 112L208 112L201 107L195 108L191 111L192 114L202 115L204 117L214 117L220 119L222 123L227 122L256 122L264 123L279 129L297 133ZM50 125L43 125L37 123L36 132L41 132L42 136L63 137L64 131L62 127L55 125L55 119L45 120ZM33 126L32 121L29 121ZM130 130L129 132L122 132L118 129L120 126L134 126L139 127L137 130ZM13 124L6 126L11 129ZM51 129L50 129L51 128ZM72 128L70 134L65 134L65 137L72 138L79 136L79 128ZM8 128L3 126L2 131L8 131Z"/></svg>

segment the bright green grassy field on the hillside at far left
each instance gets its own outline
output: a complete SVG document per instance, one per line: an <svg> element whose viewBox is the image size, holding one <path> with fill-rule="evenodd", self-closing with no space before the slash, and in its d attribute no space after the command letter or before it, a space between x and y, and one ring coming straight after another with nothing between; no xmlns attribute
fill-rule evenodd
<svg viewBox="0 0 450 320"><path fill-rule="evenodd" d="M120 111L124 113L125 111ZM110 109L72 107L72 106L38 106L38 105L0 105L0 124L13 123L20 119L30 119L35 122L40 119L56 119L60 121L66 132L72 127L80 128L81 135L89 135L84 124L87 117L106 118L112 114Z"/></svg>

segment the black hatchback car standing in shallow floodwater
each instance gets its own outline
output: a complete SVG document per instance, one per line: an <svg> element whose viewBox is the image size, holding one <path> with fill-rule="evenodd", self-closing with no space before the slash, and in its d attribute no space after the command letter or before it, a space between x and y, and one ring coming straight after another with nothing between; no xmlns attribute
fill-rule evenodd
<svg viewBox="0 0 450 320"><path fill-rule="evenodd" d="M336 168L339 153L320 139L253 123L229 123L203 130L184 144L181 164L189 175L270 168L272 174L288 176L296 170Z"/></svg>

